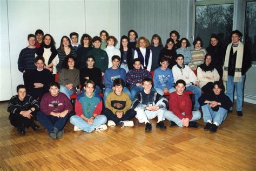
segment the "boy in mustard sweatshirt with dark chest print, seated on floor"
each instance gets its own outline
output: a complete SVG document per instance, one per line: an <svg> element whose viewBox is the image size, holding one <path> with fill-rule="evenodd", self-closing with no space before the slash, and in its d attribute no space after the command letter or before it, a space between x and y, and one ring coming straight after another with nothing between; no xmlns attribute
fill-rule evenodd
<svg viewBox="0 0 256 171"><path fill-rule="evenodd" d="M123 68L122 68L123 69ZM133 126L133 121L129 120L135 117L136 111L131 108L132 101L129 95L123 91L124 80L114 80L114 91L106 97L106 106L103 114L107 117L107 126Z"/></svg>

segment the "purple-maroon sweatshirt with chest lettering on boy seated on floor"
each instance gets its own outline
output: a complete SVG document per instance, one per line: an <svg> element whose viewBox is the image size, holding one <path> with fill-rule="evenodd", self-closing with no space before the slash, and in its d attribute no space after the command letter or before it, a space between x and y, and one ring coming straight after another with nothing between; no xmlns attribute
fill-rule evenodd
<svg viewBox="0 0 256 171"><path fill-rule="evenodd" d="M50 92L46 92L42 97L40 109L45 115L50 115L51 112L63 112L66 109L70 113L73 110L73 106L69 98L62 92L59 92L56 97L53 97Z"/></svg>

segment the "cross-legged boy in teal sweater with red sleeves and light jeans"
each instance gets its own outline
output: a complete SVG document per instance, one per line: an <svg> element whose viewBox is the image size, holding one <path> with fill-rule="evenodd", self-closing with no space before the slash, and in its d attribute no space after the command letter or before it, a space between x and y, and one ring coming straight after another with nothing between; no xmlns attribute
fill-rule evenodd
<svg viewBox="0 0 256 171"><path fill-rule="evenodd" d="M100 115L102 113L102 98L94 92L95 83L91 80L85 81L84 90L76 99L76 115L70 118L70 123L74 125L74 131L105 131L107 118Z"/></svg>

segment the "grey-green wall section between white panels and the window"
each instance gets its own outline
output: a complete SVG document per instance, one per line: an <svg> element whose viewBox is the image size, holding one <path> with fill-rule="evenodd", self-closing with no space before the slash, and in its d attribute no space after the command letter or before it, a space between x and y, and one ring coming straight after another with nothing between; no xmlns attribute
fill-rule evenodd
<svg viewBox="0 0 256 171"><path fill-rule="evenodd" d="M140 36L151 41L153 34L159 34L165 43L172 30L177 30L180 37L187 33L187 0L121 0L120 21L121 35L136 30Z"/></svg>

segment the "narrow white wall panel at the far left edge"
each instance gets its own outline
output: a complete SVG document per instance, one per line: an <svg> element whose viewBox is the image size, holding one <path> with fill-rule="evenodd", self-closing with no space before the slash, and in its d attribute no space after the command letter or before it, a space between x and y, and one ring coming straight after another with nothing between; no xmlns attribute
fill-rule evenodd
<svg viewBox="0 0 256 171"><path fill-rule="evenodd" d="M1 60L0 60L0 101L10 98L11 91L11 68L9 53L9 33L8 33L8 15L7 3L1 1ZM2 41L3 40L3 41Z"/></svg>

